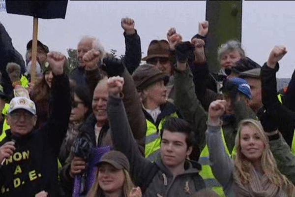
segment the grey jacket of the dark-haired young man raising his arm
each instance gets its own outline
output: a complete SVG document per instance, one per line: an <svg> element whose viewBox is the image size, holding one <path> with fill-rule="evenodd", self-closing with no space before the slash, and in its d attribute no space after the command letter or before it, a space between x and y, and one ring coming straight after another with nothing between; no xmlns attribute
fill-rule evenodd
<svg viewBox="0 0 295 197"><path fill-rule="evenodd" d="M190 162L185 163L183 173L173 177L160 157L155 163L151 163L141 155L128 123L122 98L109 97L108 117L114 148L127 156L135 185L142 185L147 181L149 176L147 171L152 167L157 167L144 197L190 197L205 188L205 183L198 173L199 169L194 168ZM147 176L144 177L143 174Z"/></svg>

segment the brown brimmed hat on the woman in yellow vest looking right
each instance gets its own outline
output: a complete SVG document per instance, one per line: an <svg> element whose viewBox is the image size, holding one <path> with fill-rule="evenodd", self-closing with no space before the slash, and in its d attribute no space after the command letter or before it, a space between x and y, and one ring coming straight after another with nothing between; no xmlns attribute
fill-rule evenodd
<svg viewBox="0 0 295 197"><path fill-rule="evenodd" d="M164 80L166 85L169 81L169 75L150 64L138 66L132 74L136 89L141 91L149 85Z"/></svg>

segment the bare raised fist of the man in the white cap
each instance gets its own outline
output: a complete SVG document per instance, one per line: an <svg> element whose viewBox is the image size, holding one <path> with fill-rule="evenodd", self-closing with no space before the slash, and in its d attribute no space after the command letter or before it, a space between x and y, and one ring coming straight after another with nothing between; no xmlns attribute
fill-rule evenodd
<svg viewBox="0 0 295 197"><path fill-rule="evenodd" d="M51 51L47 54L47 61L55 75L63 73L65 57L60 52Z"/></svg>

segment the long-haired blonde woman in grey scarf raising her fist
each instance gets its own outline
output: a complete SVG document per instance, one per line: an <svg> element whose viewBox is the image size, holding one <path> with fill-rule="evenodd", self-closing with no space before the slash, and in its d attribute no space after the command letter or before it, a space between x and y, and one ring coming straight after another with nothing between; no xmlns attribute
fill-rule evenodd
<svg viewBox="0 0 295 197"><path fill-rule="evenodd" d="M236 157L232 160L228 156L220 132L225 104L225 100L210 104L206 136L212 172L226 196L294 197L295 187L278 170L260 122L252 119L240 122Z"/></svg>

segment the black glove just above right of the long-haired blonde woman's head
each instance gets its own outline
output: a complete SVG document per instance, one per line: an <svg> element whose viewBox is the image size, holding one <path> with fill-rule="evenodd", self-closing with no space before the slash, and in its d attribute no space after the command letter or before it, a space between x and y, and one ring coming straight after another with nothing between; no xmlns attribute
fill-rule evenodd
<svg viewBox="0 0 295 197"><path fill-rule="evenodd" d="M278 129L278 119L275 109L264 111L259 119L264 131L272 132Z"/></svg>

